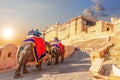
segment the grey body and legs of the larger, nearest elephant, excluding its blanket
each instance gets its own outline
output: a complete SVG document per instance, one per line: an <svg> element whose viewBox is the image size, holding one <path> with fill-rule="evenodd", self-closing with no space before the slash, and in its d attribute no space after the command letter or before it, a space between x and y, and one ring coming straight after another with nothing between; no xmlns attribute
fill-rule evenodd
<svg viewBox="0 0 120 80"><path fill-rule="evenodd" d="M17 65L16 65L16 71L15 71L15 77L19 78L21 77L21 69L23 69L23 74L28 73L26 64L28 62L34 62L34 43L33 42L24 42L17 50L16 58L17 58ZM49 49L49 45L46 44L47 50ZM46 51L48 52L48 51ZM45 58L42 58L39 63L36 65L36 68L41 70L42 62L45 60Z"/></svg>

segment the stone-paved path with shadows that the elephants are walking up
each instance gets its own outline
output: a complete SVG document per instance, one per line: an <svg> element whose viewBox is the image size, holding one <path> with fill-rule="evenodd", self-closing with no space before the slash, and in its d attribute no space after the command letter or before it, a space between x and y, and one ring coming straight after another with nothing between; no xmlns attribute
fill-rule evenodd
<svg viewBox="0 0 120 80"><path fill-rule="evenodd" d="M0 74L0 80L92 80L88 72L90 67L90 58L87 54L75 51L64 63L58 65L46 66L37 71L35 67L29 67L30 73L23 74L21 78L14 79L14 72L9 71Z"/></svg>

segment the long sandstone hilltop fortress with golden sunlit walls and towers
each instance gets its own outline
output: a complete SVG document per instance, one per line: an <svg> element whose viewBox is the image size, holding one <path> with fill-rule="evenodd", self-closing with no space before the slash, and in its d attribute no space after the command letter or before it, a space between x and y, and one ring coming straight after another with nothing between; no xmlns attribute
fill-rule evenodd
<svg viewBox="0 0 120 80"><path fill-rule="evenodd" d="M90 17L78 16L64 24L56 23L44 30L45 40L53 41L58 37L63 43L71 43L74 40L87 40L120 29L120 18L111 17L111 22L96 20Z"/></svg>

